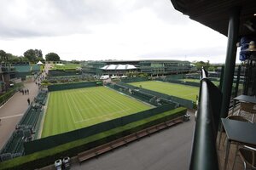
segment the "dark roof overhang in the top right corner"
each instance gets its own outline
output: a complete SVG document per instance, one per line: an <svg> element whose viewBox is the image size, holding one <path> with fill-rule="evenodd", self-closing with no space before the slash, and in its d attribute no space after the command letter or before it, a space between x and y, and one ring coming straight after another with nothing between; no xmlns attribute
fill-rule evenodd
<svg viewBox="0 0 256 170"><path fill-rule="evenodd" d="M171 0L171 2L177 11L188 15L191 20L195 20L214 31L218 31L225 37L228 36L230 14L236 10L240 11L238 36L256 37L256 31L252 31L249 27L250 25L256 26L255 0ZM249 23L249 25L247 23Z"/></svg>

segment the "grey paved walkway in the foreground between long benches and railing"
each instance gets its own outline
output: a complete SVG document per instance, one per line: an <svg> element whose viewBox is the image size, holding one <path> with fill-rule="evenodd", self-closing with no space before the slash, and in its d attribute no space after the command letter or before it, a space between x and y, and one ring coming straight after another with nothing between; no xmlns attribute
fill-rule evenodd
<svg viewBox="0 0 256 170"><path fill-rule="evenodd" d="M189 169L192 135L191 120L154 133L96 159L72 165L73 170L170 170Z"/></svg>

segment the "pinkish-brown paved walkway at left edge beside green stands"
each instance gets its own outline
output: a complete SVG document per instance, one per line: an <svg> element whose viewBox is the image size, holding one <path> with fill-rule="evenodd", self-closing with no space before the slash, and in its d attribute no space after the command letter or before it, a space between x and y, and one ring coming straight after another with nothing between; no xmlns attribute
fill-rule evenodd
<svg viewBox="0 0 256 170"><path fill-rule="evenodd" d="M7 103L0 107L0 149L9 139L15 130L15 126L20 122L28 108L27 99L31 101L38 94L38 86L35 82L24 82L24 89L29 90L29 94L22 95L17 92Z"/></svg>

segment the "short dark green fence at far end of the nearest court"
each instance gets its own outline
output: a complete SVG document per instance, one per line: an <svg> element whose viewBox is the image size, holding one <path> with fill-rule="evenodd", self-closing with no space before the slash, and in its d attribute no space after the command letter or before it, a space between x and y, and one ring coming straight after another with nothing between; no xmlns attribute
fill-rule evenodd
<svg viewBox="0 0 256 170"><path fill-rule="evenodd" d="M102 82L75 82L75 83L64 83L64 84L55 84L48 86L49 92L58 91L58 90L67 90L73 88L90 88L102 86Z"/></svg>

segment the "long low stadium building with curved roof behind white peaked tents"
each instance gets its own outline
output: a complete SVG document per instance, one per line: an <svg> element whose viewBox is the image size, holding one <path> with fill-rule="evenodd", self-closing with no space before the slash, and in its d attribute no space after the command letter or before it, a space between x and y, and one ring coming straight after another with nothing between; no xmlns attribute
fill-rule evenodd
<svg viewBox="0 0 256 170"><path fill-rule="evenodd" d="M108 66L107 66L108 65ZM109 67L109 65L112 65ZM110 69L113 65L133 65L137 72L147 73L151 76L172 75L178 73L188 73L195 71L194 65L189 61L171 60L171 59L146 59L146 60L104 60L104 61L88 61L82 66L85 75L120 75L119 69ZM121 73L125 74L135 69L121 69ZM125 71L126 70L126 71Z"/></svg>

